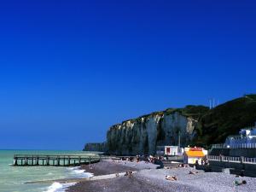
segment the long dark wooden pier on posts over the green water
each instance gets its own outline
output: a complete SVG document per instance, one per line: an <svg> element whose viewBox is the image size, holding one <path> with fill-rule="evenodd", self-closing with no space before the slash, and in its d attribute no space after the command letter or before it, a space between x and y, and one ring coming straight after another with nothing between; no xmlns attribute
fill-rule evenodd
<svg viewBox="0 0 256 192"><path fill-rule="evenodd" d="M101 156L15 154L13 166L81 166L96 163Z"/></svg>

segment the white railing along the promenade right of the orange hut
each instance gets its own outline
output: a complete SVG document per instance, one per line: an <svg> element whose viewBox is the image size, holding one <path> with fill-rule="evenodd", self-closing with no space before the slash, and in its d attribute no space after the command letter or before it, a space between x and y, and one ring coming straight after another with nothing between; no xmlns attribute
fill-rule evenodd
<svg viewBox="0 0 256 192"><path fill-rule="evenodd" d="M230 157L230 156L223 156L223 155L220 155L220 156L208 155L207 159L223 161L223 162L256 164L256 158L250 158L250 157Z"/></svg>

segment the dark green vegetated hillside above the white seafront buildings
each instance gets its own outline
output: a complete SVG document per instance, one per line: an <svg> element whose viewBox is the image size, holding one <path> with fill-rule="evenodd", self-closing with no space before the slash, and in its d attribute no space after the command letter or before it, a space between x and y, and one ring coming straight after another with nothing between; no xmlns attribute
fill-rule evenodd
<svg viewBox="0 0 256 192"><path fill-rule="evenodd" d="M204 113L195 127L194 144L209 146L224 143L229 135L236 135L241 128L253 126L256 121L256 95L246 95L225 102Z"/></svg>

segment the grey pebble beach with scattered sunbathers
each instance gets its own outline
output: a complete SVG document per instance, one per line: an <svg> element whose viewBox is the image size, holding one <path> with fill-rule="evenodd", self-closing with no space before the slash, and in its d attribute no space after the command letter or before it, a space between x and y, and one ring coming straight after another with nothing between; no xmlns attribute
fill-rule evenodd
<svg viewBox="0 0 256 192"><path fill-rule="evenodd" d="M132 171L130 176L111 177L100 180L80 181L67 188L67 192L251 192L256 191L256 178L236 177L222 172L204 172L191 167L157 169L150 163L125 160L102 160L99 163L81 166L84 172L95 176ZM189 174L189 172L192 172ZM177 180L166 180L166 176ZM246 180L236 186L235 181Z"/></svg>

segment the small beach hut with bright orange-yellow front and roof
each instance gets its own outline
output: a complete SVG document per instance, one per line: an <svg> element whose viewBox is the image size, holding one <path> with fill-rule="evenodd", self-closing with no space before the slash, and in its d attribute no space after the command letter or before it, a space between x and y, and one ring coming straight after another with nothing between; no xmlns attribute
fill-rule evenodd
<svg viewBox="0 0 256 192"><path fill-rule="evenodd" d="M199 164L201 165L202 160L206 157L207 150L204 148L185 148L183 154L183 162L187 164Z"/></svg>

